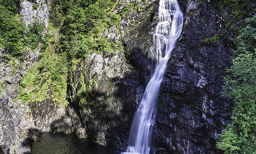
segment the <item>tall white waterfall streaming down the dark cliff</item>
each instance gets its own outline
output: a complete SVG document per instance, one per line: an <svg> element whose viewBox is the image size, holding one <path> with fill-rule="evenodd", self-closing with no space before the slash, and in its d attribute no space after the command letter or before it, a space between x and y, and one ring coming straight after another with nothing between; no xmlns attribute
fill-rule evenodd
<svg viewBox="0 0 256 154"><path fill-rule="evenodd" d="M157 65L134 115L127 153L150 152L152 128L156 116L155 101L167 62L182 31L183 15L177 0L160 0L158 14L153 51Z"/></svg>

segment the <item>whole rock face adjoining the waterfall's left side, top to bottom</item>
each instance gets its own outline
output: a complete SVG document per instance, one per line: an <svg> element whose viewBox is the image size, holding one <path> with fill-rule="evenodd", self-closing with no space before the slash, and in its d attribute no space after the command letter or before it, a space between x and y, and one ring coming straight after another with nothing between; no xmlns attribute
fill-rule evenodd
<svg viewBox="0 0 256 154"><path fill-rule="evenodd" d="M123 13L132 3L142 9L138 12L134 5ZM71 106L100 145L123 151L127 147L132 117L152 71L150 50L157 7L157 1L119 1L113 13L125 15L118 27L105 29L102 36L117 45L121 37L125 52L90 54L73 71ZM78 97L83 88L89 93Z"/></svg>

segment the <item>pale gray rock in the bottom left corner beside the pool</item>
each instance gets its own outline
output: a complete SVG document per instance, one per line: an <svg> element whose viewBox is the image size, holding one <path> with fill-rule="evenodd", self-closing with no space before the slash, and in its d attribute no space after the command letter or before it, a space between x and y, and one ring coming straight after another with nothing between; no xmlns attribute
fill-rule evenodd
<svg viewBox="0 0 256 154"><path fill-rule="evenodd" d="M38 138L29 106L21 101L13 103L5 94L0 97L0 152L30 153L30 140Z"/></svg>

